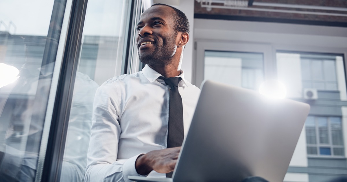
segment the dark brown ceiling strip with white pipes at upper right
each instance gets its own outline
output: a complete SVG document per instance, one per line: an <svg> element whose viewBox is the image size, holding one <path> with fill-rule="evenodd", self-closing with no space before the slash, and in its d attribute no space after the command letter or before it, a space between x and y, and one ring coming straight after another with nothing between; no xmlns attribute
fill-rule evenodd
<svg viewBox="0 0 347 182"><path fill-rule="evenodd" d="M347 0L195 0L194 18L347 27Z"/></svg>

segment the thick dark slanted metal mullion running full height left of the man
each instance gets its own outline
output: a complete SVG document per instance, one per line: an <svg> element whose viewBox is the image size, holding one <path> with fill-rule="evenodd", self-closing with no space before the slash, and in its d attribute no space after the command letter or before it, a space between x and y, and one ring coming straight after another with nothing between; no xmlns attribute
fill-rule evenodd
<svg viewBox="0 0 347 182"><path fill-rule="evenodd" d="M72 0L41 181L59 181L87 0Z"/></svg>

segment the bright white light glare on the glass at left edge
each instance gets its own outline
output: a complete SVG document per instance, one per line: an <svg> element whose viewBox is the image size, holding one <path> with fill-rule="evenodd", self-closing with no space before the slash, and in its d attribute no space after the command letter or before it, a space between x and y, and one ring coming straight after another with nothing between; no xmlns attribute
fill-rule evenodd
<svg viewBox="0 0 347 182"><path fill-rule="evenodd" d="M16 81L19 70L14 66L0 63L0 88Z"/></svg>

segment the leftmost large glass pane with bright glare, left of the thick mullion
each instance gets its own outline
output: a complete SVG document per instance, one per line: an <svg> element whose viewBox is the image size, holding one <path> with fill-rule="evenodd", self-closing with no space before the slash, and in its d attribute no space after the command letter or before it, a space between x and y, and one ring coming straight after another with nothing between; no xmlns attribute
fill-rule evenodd
<svg viewBox="0 0 347 182"><path fill-rule="evenodd" d="M65 4L0 1L0 181L35 179Z"/></svg>

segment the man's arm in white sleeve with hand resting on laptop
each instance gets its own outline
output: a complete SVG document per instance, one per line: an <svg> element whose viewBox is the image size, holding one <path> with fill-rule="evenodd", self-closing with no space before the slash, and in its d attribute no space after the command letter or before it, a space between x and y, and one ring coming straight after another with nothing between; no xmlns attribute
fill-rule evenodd
<svg viewBox="0 0 347 182"><path fill-rule="evenodd" d="M102 85L95 95L91 139L85 181L127 181L128 175L147 175L152 170L174 170L180 147L150 151L116 161L121 128L121 93L111 84ZM124 131L122 131L124 132Z"/></svg>

